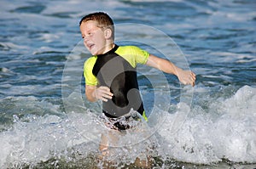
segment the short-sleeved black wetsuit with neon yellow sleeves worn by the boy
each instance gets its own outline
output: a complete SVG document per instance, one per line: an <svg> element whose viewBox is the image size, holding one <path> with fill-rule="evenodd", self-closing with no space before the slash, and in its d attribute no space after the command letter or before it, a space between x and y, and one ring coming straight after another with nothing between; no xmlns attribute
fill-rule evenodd
<svg viewBox="0 0 256 169"><path fill-rule="evenodd" d="M117 46L106 54L90 57L84 63L86 85L110 88L113 98L102 102L102 112L115 118L131 109L147 118L137 83L137 64L145 64L148 52L135 46ZM147 119L146 119L147 120Z"/></svg>

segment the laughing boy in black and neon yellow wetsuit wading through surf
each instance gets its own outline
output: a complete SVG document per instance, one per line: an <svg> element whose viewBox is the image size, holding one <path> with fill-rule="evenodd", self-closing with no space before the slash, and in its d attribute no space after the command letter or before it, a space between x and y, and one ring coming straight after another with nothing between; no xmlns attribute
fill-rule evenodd
<svg viewBox="0 0 256 169"><path fill-rule="evenodd" d="M118 46L114 43L113 20L108 14L88 14L79 22L84 46L93 55L84 63L85 95L90 102L101 99L102 112L113 130L130 128L124 122L131 109L143 115L143 102L138 92L137 64L149 65L177 76L183 84L195 86L195 73L182 70L166 59L160 59L135 46ZM128 116L126 116L128 115ZM125 117L125 118L124 118ZM102 137L100 150L108 149Z"/></svg>

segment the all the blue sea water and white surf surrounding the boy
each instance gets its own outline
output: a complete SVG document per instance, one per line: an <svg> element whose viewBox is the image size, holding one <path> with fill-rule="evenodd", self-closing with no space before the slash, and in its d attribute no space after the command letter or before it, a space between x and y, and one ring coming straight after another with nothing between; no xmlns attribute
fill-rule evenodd
<svg viewBox="0 0 256 169"><path fill-rule="evenodd" d="M110 144L110 166L256 167L256 3L211 1L0 2L0 168L104 168L101 103L84 97L79 34L104 11L117 44L135 44L197 75L195 87L139 65L148 122Z"/></svg>

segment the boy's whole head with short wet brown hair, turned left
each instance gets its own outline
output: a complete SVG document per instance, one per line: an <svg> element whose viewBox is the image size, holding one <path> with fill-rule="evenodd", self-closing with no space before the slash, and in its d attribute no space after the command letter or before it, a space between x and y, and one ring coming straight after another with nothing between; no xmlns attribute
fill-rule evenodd
<svg viewBox="0 0 256 169"><path fill-rule="evenodd" d="M113 43L113 20L106 13L88 14L79 22L84 46L91 54L103 54L106 46Z"/></svg>

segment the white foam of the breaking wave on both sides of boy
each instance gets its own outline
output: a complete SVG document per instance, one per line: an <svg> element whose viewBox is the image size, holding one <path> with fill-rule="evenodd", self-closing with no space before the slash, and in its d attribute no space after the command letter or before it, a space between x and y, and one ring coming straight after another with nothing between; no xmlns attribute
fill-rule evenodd
<svg viewBox="0 0 256 169"><path fill-rule="evenodd" d="M145 145L154 145L154 153L163 159L171 157L177 161L209 164L225 158L234 162L255 163L255 96L256 88L245 86L222 103L213 102L209 112L199 105L191 109L184 103L178 104L173 114L154 109L156 111L153 110L149 117L149 123L153 125L144 126L144 130L135 135L127 132L123 136L125 139L120 138L123 140L118 144L120 149L114 152L124 156L125 151L130 151L123 160L131 163L138 152L146 149ZM22 100L27 100L23 99L20 98L20 104ZM49 112L59 109L52 108L54 105L46 101L38 103L34 97L29 100L31 106L44 105ZM23 109L26 107L23 106ZM67 150L75 146L84 155L97 152L102 130L106 129L98 115L85 109L77 110L67 115L26 115L21 119L14 115L14 125L0 132L0 149L3 149L0 166L36 165L52 157L67 156ZM190 113L185 115L185 121L177 117L188 110ZM160 123L162 120L164 123ZM182 124L179 121L183 121ZM88 149L79 148L80 144ZM135 147L137 152L133 152Z"/></svg>

